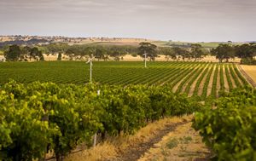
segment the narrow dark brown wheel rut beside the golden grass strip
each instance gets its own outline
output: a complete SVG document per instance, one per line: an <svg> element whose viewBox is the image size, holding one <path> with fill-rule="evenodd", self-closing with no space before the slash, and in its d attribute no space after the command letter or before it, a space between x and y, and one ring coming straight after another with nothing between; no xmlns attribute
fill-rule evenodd
<svg viewBox="0 0 256 161"><path fill-rule="evenodd" d="M154 144L161 141L164 135L167 135L170 131L175 130L178 126L187 124L188 120L183 120L183 122L167 125L165 129L158 131L153 138L146 142L140 142L138 144L130 145L125 152L120 151L119 156L115 158L116 161L133 161L141 158L144 152L147 152Z"/></svg>

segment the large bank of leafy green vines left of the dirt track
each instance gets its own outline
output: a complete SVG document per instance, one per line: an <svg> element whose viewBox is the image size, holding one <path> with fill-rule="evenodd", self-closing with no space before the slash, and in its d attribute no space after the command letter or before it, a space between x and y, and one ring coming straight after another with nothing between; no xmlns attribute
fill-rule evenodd
<svg viewBox="0 0 256 161"><path fill-rule="evenodd" d="M100 94L97 90L100 89ZM0 88L0 159L57 160L92 136L134 133L145 124L201 106L170 85L74 85L15 81Z"/></svg>

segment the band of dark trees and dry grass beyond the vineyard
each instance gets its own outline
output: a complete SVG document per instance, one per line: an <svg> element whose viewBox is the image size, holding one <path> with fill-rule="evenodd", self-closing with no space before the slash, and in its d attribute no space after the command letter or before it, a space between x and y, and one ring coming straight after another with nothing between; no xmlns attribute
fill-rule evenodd
<svg viewBox="0 0 256 161"><path fill-rule="evenodd" d="M132 45L102 45L102 44L74 44L51 43L41 46L18 46L11 45L5 48L4 56L6 60L44 60L46 55L58 55L57 60L61 60L62 55L66 55L69 60L83 60L93 56L96 60L122 60L125 55L141 56L155 60L159 55L165 55L166 60L201 60L205 55L214 55L219 62L228 62L235 57L241 58L243 64L256 64L253 59L256 56L256 43L244 43L232 46L220 43L215 49L204 49L201 44L192 43L189 48L181 47L158 47L153 43L139 43L139 46Z"/></svg>

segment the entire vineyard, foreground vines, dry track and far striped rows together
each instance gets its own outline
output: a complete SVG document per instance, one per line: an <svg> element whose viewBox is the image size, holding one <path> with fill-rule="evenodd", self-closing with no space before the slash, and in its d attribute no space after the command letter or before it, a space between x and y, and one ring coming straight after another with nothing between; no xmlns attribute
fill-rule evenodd
<svg viewBox="0 0 256 161"><path fill-rule="evenodd" d="M238 67L94 61L89 83L84 61L0 63L0 160L239 160L255 142L256 90Z"/></svg>

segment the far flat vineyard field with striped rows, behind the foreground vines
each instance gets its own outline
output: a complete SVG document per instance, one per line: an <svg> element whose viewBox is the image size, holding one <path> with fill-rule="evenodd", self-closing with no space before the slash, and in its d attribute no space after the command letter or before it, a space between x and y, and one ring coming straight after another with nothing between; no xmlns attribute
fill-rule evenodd
<svg viewBox="0 0 256 161"><path fill-rule="evenodd" d="M102 84L171 84L175 93L203 98L218 95L247 84L235 64L211 62L93 62L93 80ZM54 83L89 82L90 66L81 61L16 62L0 64L0 83L15 79L20 83L33 81Z"/></svg>

